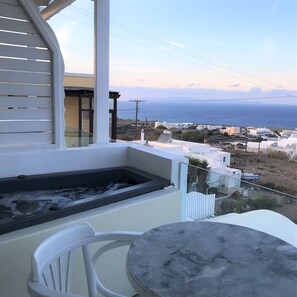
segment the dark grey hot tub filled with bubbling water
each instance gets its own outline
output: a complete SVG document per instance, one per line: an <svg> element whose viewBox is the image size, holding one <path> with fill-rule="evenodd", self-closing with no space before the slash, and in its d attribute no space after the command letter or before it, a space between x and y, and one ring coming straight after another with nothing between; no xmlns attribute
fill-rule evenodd
<svg viewBox="0 0 297 297"><path fill-rule="evenodd" d="M130 167L0 179L0 234L149 193L170 182Z"/></svg>

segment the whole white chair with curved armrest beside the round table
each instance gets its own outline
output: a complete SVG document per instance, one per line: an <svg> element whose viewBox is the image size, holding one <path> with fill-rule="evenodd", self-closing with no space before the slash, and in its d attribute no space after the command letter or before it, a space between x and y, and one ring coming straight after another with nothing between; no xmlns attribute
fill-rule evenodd
<svg viewBox="0 0 297 297"><path fill-rule="evenodd" d="M130 245L141 233L97 232L88 223L72 225L44 240L32 255L32 271L27 289L31 297L81 297L70 292L73 254L83 253L89 297L100 292L106 297L125 297L106 288L98 279L96 261L110 249ZM90 245L99 241L112 241L100 247L91 256Z"/></svg>

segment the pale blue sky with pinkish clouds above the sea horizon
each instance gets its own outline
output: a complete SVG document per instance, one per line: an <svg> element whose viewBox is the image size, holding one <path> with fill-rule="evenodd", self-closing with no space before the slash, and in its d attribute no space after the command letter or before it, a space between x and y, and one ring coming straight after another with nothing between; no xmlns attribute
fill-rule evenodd
<svg viewBox="0 0 297 297"><path fill-rule="evenodd" d="M296 0L110 0L110 7L110 88L122 100L297 104ZM65 71L93 73L93 2L77 0L49 24Z"/></svg>

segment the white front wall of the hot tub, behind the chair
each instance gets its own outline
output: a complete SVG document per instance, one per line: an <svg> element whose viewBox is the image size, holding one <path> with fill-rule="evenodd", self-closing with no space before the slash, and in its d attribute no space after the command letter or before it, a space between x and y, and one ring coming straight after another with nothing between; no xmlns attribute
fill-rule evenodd
<svg viewBox="0 0 297 297"><path fill-rule="evenodd" d="M159 225L178 222L180 218L181 193L171 188L1 235L0 296L29 297L26 281L33 250L50 234L70 224L89 222L96 231L146 231ZM132 296L134 290L125 275L126 252L127 248L121 248L103 259L102 280L106 285L111 285L113 290ZM86 296L85 273L81 263L75 269L74 290Z"/></svg>

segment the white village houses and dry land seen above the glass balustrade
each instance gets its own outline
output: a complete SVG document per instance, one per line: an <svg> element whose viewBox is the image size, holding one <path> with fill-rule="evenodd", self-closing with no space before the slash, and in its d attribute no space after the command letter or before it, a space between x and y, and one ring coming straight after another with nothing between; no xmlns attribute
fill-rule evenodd
<svg viewBox="0 0 297 297"><path fill-rule="evenodd" d="M251 180L297 196L295 179L297 129L268 129L194 123L118 121L118 139L149 145L159 150L207 162L214 176L211 181L227 195L240 179ZM297 184L297 181L296 181Z"/></svg>

